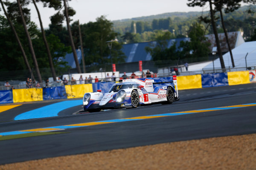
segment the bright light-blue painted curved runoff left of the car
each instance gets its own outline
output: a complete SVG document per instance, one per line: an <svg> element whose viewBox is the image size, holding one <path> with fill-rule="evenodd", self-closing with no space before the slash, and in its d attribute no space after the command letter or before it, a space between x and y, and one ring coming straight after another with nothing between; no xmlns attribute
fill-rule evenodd
<svg viewBox="0 0 256 170"><path fill-rule="evenodd" d="M21 113L14 118L14 120L23 120L23 119L34 119L34 118L43 118L43 117L53 117L58 116L60 111L63 111L67 108L74 106L82 105L82 100L69 100L64 102L54 103L52 105L47 105L42 108L38 108L32 111L27 111Z"/></svg>

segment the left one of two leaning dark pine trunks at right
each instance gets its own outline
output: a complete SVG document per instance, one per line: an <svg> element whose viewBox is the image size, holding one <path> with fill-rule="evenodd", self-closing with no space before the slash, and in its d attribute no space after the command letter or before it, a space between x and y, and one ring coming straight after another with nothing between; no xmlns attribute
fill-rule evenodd
<svg viewBox="0 0 256 170"><path fill-rule="evenodd" d="M205 6L207 2L209 2L209 7L210 7L210 17L211 17L211 23L212 23L212 30L215 36L215 41L216 41L216 45L217 45L217 50L218 50L218 54L219 54L219 59L221 62L221 68L225 69L225 64L224 64L224 60L222 57L222 51L221 51L221 45L220 45L220 41L218 39L218 32L217 32L217 28L216 28L216 24L215 24L215 17L214 17L214 10L212 8L212 0L188 0L190 3L187 3L188 6Z"/></svg>

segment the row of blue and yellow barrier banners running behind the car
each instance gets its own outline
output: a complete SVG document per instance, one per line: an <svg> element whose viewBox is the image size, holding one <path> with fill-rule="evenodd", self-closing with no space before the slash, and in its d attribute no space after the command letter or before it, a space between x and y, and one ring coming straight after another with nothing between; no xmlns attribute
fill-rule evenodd
<svg viewBox="0 0 256 170"><path fill-rule="evenodd" d="M156 77L155 82L172 81L172 77ZM224 85L239 85L256 82L256 71L237 71L227 73L197 74L178 76L179 90L208 88ZM108 92L115 82L98 82L81 85L63 85L49 88L26 88L0 91L0 104L43 101L50 99L81 98L84 93L102 90Z"/></svg>

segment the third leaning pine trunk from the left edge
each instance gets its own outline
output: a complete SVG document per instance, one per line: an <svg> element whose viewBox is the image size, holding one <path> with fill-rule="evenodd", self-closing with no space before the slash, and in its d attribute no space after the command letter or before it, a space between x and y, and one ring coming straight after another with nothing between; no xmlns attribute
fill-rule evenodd
<svg viewBox="0 0 256 170"><path fill-rule="evenodd" d="M38 19L39 19L39 22L40 22L40 27L41 27L41 33L42 33L42 37L43 37L43 40L44 40L44 45L45 45L45 48L46 48L46 51L47 51L47 56L48 56L48 59L49 59L49 65L50 65L50 69L51 69L51 72L52 72L52 77L53 77L53 80L56 81L56 73L55 73L55 70L54 70L54 66L53 66L53 62L52 62L52 55L51 55L51 52L50 52L50 49L49 49L49 45L48 45L48 42L46 40L46 36L45 36L45 32L44 32L44 27L43 27L43 23L42 23L42 20L41 20L41 15L40 15L40 12L38 10L38 7L35 3L35 0L32 0L34 5L35 5L35 9L38 13Z"/></svg>

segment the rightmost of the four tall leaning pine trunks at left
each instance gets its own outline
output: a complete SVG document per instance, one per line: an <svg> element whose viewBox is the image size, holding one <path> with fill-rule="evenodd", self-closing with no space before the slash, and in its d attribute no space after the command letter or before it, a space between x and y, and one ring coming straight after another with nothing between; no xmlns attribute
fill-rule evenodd
<svg viewBox="0 0 256 170"><path fill-rule="evenodd" d="M72 8L67 7L66 0L63 0L63 3L64 3L64 8L65 8L64 15L65 15L66 21L67 21L67 31L68 31L68 34L69 34L69 37L70 37L70 45L71 45L71 48L72 48L72 51L73 51L73 56L74 56L75 63L76 63L76 69L77 69L78 73L81 73L79 61L78 61L77 54L76 54L76 48L75 48L75 45L74 45L74 42L73 42L73 37L72 37L70 25L69 25L70 24L70 19L69 19L68 10L72 10Z"/></svg>

